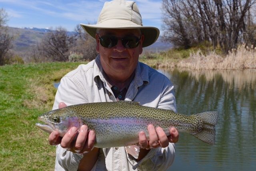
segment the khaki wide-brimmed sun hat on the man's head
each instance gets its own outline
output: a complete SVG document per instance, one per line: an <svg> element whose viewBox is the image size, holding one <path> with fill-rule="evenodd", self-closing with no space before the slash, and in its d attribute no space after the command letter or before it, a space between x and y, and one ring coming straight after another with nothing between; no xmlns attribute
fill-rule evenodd
<svg viewBox="0 0 256 171"><path fill-rule="evenodd" d="M105 2L97 24L80 24L82 28L96 38L97 28L132 29L140 28L144 34L142 47L156 42L159 29L156 27L143 26L139 9L134 1L112 0Z"/></svg>

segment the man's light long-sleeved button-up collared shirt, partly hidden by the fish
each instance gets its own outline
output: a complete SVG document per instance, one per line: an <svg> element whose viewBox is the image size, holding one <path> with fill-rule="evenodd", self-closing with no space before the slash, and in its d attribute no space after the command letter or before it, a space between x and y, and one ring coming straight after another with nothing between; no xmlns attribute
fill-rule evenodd
<svg viewBox="0 0 256 171"><path fill-rule="evenodd" d="M116 101L107 84L100 56L88 64L80 65L66 74L58 87L53 109L58 109L60 102L66 105ZM125 96L127 101L138 101L140 105L170 109L176 112L174 86L166 76L138 62L134 79ZM97 135L96 135L97 136ZM166 148L158 147L139 162L126 154L124 147L100 149L98 161L92 170L166 170L174 161L175 147L169 143ZM76 171L83 155L72 153L57 145L55 170Z"/></svg>

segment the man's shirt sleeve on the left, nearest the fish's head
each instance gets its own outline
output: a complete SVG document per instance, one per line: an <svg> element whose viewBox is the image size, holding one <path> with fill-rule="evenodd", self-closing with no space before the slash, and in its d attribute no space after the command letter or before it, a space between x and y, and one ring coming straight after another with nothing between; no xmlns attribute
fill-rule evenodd
<svg viewBox="0 0 256 171"><path fill-rule="evenodd" d="M55 96L53 109L58 109L60 102L66 105L75 105L80 103L87 103L87 96L81 90L78 82L74 78L65 76L61 79L60 85ZM76 171L83 155L72 153L60 145L56 149L56 171Z"/></svg>

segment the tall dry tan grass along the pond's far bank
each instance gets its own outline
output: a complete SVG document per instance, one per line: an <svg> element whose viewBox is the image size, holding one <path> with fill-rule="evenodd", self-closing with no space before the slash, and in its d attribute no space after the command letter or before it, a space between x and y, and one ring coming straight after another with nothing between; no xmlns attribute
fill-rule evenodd
<svg viewBox="0 0 256 171"><path fill-rule="evenodd" d="M178 68L189 68L192 70L238 70L256 68L256 48L248 48L245 45L233 49L227 56L220 56L215 52L208 55L200 51L191 53L186 60L177 63Z"/></svg>

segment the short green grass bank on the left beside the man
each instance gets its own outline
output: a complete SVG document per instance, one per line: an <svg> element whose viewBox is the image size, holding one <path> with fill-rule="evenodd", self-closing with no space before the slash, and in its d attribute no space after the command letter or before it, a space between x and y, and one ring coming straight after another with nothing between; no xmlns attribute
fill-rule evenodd
<svg viewBox="0 0 256 171"><path fill-rule="evenodd" d="M55 147L36 128L37 117L52 108L60 80L79 63L0 66L0 170L53 170Z"/></svg>

